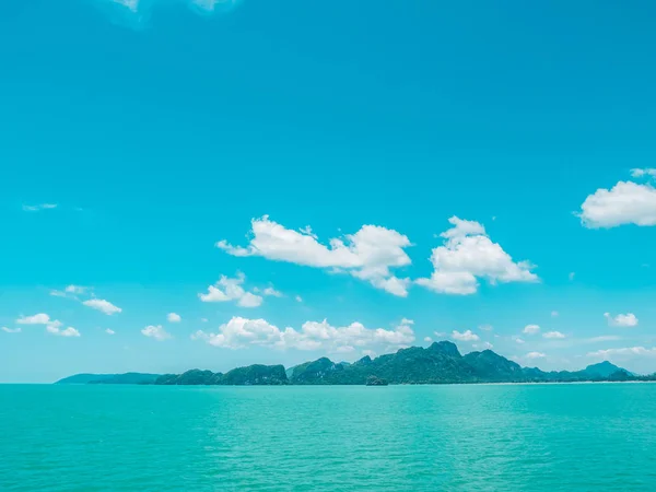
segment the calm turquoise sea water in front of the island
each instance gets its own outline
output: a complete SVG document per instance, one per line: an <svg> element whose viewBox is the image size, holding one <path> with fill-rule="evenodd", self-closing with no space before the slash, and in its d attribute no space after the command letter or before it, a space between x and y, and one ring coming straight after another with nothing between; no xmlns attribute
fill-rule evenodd
<svg viewBox="0 0 656 492"><path fill-rule="evenodd" d="M656 385L1 386L1 491L654 491Z"/></svg>

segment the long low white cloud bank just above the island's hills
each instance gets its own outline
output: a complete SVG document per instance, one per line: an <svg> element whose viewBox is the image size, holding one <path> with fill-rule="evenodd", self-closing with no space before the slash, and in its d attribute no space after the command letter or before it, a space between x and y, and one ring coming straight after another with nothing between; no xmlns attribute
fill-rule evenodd
<svg viewBox="0 0 656 492"><path fill-rule="evenodd" d="M233 350L259 345L339 353L355 349L393 350L407 347L414 341L414 331L408 324L400 324L393 330L386 330L365 328L360 323L333 327L327 320L306 321L300 330L290 327L281 330L265 319L233 317L221 325L216 333L199 330L191 338Z"/></svg>

